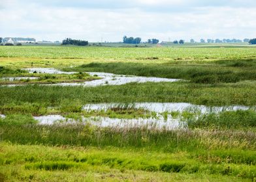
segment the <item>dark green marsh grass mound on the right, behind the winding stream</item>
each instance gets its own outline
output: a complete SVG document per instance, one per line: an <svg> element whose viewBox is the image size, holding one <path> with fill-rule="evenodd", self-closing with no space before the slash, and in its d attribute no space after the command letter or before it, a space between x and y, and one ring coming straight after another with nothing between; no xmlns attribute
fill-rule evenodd
<svg viewBox="0 0 256 182"><path fill-rule="evenodd" d="M227 63L225 62L227 61ZM236 83L255 80L255 60L218 60L208 64L175 64L141 62L92 62L65 71L106 72L145 77L186 79L193 83ZM246 69L244 69L246 68Z"/></svg>

